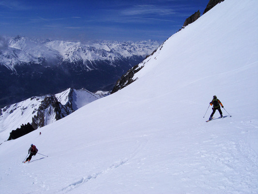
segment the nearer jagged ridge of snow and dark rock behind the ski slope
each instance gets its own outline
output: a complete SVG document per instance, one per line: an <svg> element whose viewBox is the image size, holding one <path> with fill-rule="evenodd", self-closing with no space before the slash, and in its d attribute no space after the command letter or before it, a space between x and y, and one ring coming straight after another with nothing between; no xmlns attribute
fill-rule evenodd
<svg viewBox="0 0 258 194"><path fill-rule="evenodd" d="M96 94L86 89L67 89L56 95L30 97L0 109L0 143L12 130L30 123L34 129L51 124L108 93Z"/></svg>

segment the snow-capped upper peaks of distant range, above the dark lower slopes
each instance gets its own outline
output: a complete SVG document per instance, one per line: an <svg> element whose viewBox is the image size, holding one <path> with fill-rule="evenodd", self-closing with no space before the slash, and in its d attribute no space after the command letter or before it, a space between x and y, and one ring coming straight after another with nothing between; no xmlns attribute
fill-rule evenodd
<svg viewBox="0 0 258 194"><path fill-rule="evenodd" d="M134 56L146 57L160 43L158 41L109 42L100 41L89 44L60 40L33 40L16 36L8 41L8 47L0 51L0 64L15 71L15 65L43 62L59 65L62 62L83 62L88 70L97 69L94 61L109 61L109 65L119 65L116 61ZM114 63L113 63L114 62Z"/></svg>

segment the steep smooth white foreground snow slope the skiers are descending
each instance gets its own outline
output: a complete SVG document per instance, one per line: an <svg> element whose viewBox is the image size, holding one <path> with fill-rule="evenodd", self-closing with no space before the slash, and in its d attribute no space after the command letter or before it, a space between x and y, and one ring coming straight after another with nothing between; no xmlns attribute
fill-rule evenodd
<svg viewBox="0 0 258 194"><path fill-rule="evenodd" d="M1 193L257 194L257 8L218 4L145 60L137 81L4 142ZM205 122L213 95L232 117ZM30 144L48 157L22 163Z"/></svg>

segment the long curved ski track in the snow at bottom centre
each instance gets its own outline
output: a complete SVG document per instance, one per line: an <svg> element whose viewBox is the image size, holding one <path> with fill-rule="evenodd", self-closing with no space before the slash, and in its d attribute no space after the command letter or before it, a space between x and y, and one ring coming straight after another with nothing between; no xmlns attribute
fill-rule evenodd
<svg viewBox="0 0 258 194"><path fill-rule="evenodd" d="M113 163L111 166L109 166L108 168L106 168L105 170L103 171L99 171L97 173L94 173L93 175L88 175L86 177L83 177L81 178L79 181L76 181L72 184L70 184L68 187L65 187L61 190L61 192L69 192L73 189L76 189L77 187L79 187L80 185L90 181L91 179L95 179L95 178L98 178L100 177L101 175L103 174L106 174L108 173L109 171L113 170L113 169L116 169L118 167L120 167L121 165L125 164L126 162L128 162L130 159L134 158L137 153L148 143L148 140L143 140L139 146L137 146L137 148L135 149L134 152L131 153L131 155L129 157L125 157L123 159L121 159L119 162L115 162Z"/></svg>

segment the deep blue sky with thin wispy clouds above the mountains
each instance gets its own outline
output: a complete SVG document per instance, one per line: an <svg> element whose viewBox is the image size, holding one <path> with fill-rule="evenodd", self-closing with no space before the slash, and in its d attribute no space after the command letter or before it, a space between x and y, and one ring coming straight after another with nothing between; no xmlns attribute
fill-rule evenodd
<svg viewBox="0 0 258 194"><path fill-rule="evenodd" d="M160 40L209 0L0 0L0 35L66 40Z"/></svg>

